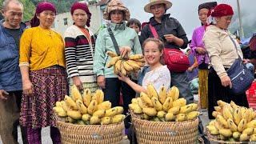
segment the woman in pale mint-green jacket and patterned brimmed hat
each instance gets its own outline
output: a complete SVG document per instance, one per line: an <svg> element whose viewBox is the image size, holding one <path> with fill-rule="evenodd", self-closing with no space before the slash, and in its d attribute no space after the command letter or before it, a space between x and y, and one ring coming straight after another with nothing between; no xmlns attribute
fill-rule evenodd
<svg viewBox="0 0 256 144"><path fill-rule="evenodd" d="M118 43L121 56L127 54L142 54L142 48L138 39L138 34L134 29L126 26L126 22L130 19L130 12L123 6L119 0L111 0L106 6L103 14L106 20L110 20L110 29L114 34L114 38ZM110 38L107 28L98 34L95 51L94 51L94 73L97 75L98 86L100 86L105 94L104 100L110 101L112 106L118 106L120 100L120 90L122 90L124 114L128 111L128 105L131 99L135 97L135 91L125 82L118 79L118 75L114 74L113 66L106 67L106 63L110 61L110 57L106 51L116 52L114 44ZM126 128L129 127L128 122Z"/></svg>

